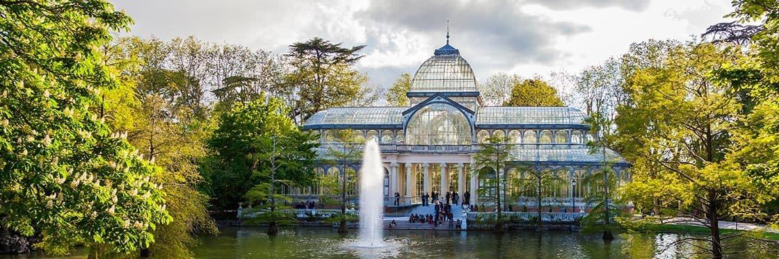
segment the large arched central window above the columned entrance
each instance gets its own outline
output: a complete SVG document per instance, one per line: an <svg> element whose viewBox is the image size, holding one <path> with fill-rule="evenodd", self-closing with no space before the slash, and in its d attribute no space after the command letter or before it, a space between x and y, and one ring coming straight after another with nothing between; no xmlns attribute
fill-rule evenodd
<svg viewBox="0 0 779 259"><path fill-rule="evenodd" d="M417 110L408 121L406 144L468 145L471 144L471 124L455 107L432 103Z"/></svg>

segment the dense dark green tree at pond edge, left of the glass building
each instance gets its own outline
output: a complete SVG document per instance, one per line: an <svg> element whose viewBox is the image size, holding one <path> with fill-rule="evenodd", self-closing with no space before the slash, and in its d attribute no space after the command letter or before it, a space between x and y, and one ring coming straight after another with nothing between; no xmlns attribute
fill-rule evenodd
<svg viewBox="0 0 779 259"><path fill-rule="evenodd" d="M277 138L276 152L273 138ZM250 103L236 103L231 112L220 114L218 127L207 141L213 158L212 167L204 173L214 205L225 209L247 200L267 201L265 190L270 190L271 178L294 186L312 184L313 171L306 165L315 157L315 139L298 131L281 100L266 102L261 96ZM271 165L272 158L278 166Z"/></svg>

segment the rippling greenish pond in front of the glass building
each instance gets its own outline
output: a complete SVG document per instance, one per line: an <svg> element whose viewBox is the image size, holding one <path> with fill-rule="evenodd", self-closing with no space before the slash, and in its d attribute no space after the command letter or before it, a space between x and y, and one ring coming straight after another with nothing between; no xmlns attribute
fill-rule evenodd
<svg viewBox="0 0 779 259"><path fill-rule="evenodd" d="M449 232L432 230L385 231L386 247L358 248L356 229L340 235L333 228L285 229L269 238L261 227L224 228L220 236L205 236L195 249L199 258L677 258L705 253L693 245L671 245L683 234L621 233L605 243L600 235L567 231L536 233L513 231ZM706 246L706 243L696 243ZM735 243L738 257L775 258L776 245ZM668 249L666 249L668 247ZM700 257L710 257L706 254Z"/></svg>

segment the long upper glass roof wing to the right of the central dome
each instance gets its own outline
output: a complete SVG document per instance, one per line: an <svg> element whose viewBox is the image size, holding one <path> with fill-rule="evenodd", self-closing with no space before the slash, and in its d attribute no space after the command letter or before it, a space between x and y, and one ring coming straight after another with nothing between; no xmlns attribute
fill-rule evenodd
<svg viewBox="0 0 779 259"><path fill-rule="evenodd" d="M585 117L572 107L481 107L476 124L585 124Z"/></svg>

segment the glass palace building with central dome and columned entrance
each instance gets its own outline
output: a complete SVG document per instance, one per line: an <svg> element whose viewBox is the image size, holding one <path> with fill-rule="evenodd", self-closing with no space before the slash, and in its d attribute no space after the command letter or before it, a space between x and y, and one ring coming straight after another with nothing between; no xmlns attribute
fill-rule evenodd
<svg viewBox="0 0 779 259"><path fill-rule="evenodd" d="M449 44L436 50L418 68L407 96L411 100L408 107L322 110L309 117L302 128L321 134L317 154L323 161L333 158L333 150L347 147L337 142L344 129L359 135L358 142L378 139L386 175L384 194L390 196L397 191L408 202L421 202L419 196L431 191L470 191L472 198L483 198L478 193L488 190L485 184L490 180L474 175L478 169L472 168L471 162L490 137L509 137L506 144L510 145L512 161L503 177L527 177L528 164L532 165L531 170L553 171L557 175L555 182L544 190L551 197L587 197L590 186L584 184L584 178L603 166L604 161L619 170L629 167L612 150L606 149L605 156L591 152L586 144L593 140L593 132L585 122L586 114L576 108L482 106L471 66ZM361 145L348 146L361 149ZM353 176L359 165L359 161L354 161L351 168L342 170ZM317 166L321 166L317 172L326 176L339 177L342 173L324 162ZM620 183L630 180L629 173L617 174ZM353 177L347 179L347 192L356 194L357 182ZM573 184L574 180L577 184ZM523 191L527 191L508 185L506 194L524 195ZM309 190L326 192L319 185Z"/></svg>

